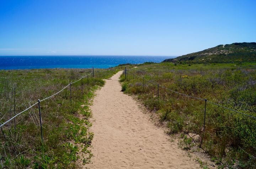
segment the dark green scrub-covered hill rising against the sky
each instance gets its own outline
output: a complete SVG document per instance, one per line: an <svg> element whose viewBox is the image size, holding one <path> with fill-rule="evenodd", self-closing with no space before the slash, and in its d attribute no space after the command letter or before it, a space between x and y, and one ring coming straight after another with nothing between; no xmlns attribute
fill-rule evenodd
<svg viewBox="0 0 256 169"><path fill-rule="evenodd" d="M256 62L256 43L243 42L218 45L200 52L190 53L163 62L238 63Z"/></svg>

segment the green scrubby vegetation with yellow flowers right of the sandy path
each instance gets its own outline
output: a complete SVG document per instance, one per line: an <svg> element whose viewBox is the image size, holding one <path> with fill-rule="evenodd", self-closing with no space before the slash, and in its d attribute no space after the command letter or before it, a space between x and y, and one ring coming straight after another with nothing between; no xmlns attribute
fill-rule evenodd
<svg viewBox="0 0 256 169"><path fill-rule="evenodd" d="M157 113L169 134L180 134L184 150L201 146L219 168L256 168L256 120L221 107L256 117L256 63L137 66L127 69L127 78L121 76L122 91ZM161 86L158 97L157 84L202 100ZM197 137L190 138L189 133Z"/></svg>

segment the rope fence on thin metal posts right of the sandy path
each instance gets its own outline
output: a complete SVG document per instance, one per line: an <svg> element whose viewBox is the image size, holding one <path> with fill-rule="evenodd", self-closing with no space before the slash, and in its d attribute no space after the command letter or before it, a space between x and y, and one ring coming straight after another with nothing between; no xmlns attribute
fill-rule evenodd
<svg viewBox="0 0 256 169"><path fill-rule="evenodd" d="M154 94L155 95L155 97L157 97L157 101L159 102L159 96L160 96L160 93L159 93L159 88L162 88L162 89L165 89L166 91L169 91L169 92L172 92L172 93L176 93L176 94L178 94L178 95L182 95L182 96L184 96L184 97L188 97L188 98L192 98L192 99L196 99L196 100L200 100L200 101L204 101L204 116L203 116L203 130L202 130L202 134L203 134L203 136L205 135L205 132L206 132L206 119L207 119L207 103L209 103L209 104L212 104L212 105L214 105L214 106L218 106L218 107L222 107L223 109L226 109L226 110L230 110L230 111L233 111L233 112L235 112L235 113L238 113L238 114L240 114L240 115L242 115L242 116L245 116L245 117L248 117L249 118L249 130L250 130L250 132L251 132L251 137L252 137L252 135L255 135L255 133L253 132L253 131L255 131L256 130L256 127L255 127L255 129L254 128L252 128L252 123L251 123L251 120L256 120L256 117L254 117L254 116L251 116L251 115L248 115L248 114L246 114L246 113L243 113L243 112L240 112L240 111L237 111L237 110L234 110L234 109L230 109L229 107L225 107L225 106L223 106L223 105L220 105L220 104L217 104L217 103L214 103L213 101L209 101L209 100L207 100L206 98L205 99L202 99L202 98L199 98L199 97L194 97L194 96L192 96L192 95L188 95L188 94L184 94L184 93L181 93L181 92L177 92L177 91L174 91L174 90L172 90L172 89L170 89L170 88L167 88L167 87L165 87L165 86L163 86L163 85L161 85L161 84L159 84L159 83L157 83L157 82L152 82L152 81L150 81L150 80L148 80L147 78L145 78L144 76L138 76L138 75L136 75L136 74L131 74L131 75L129 75L128 76L128 71L125 69L125 71L124 71L124 74L125 74L125 80L126 81L129 81L129 80L132 80L132 78L128 78L128 77L130 77L130 76L132 76L133 77L133 80L134 81L136 81L136 77L137 78L139 78L141 81L142 81L142 83L141 83L141 85L142 85L142 92L143 93L145 93L145 87L146 87L146 85L145 85L145 83L146 82L148 82L148 83L150 83L151 85L153 85L153 86L155 86L155 88L157 88L157 93L156 94ZM151 92L151 91L148 91L148 92ZM154 96L153 96L154 97ZM246 123L246 122L245 122ZM203 136L201 137L201 143L200 143L200 147L202 146L202 142L203 142ZM252 157L254 157L254 156L252 156Z"/></svg>

